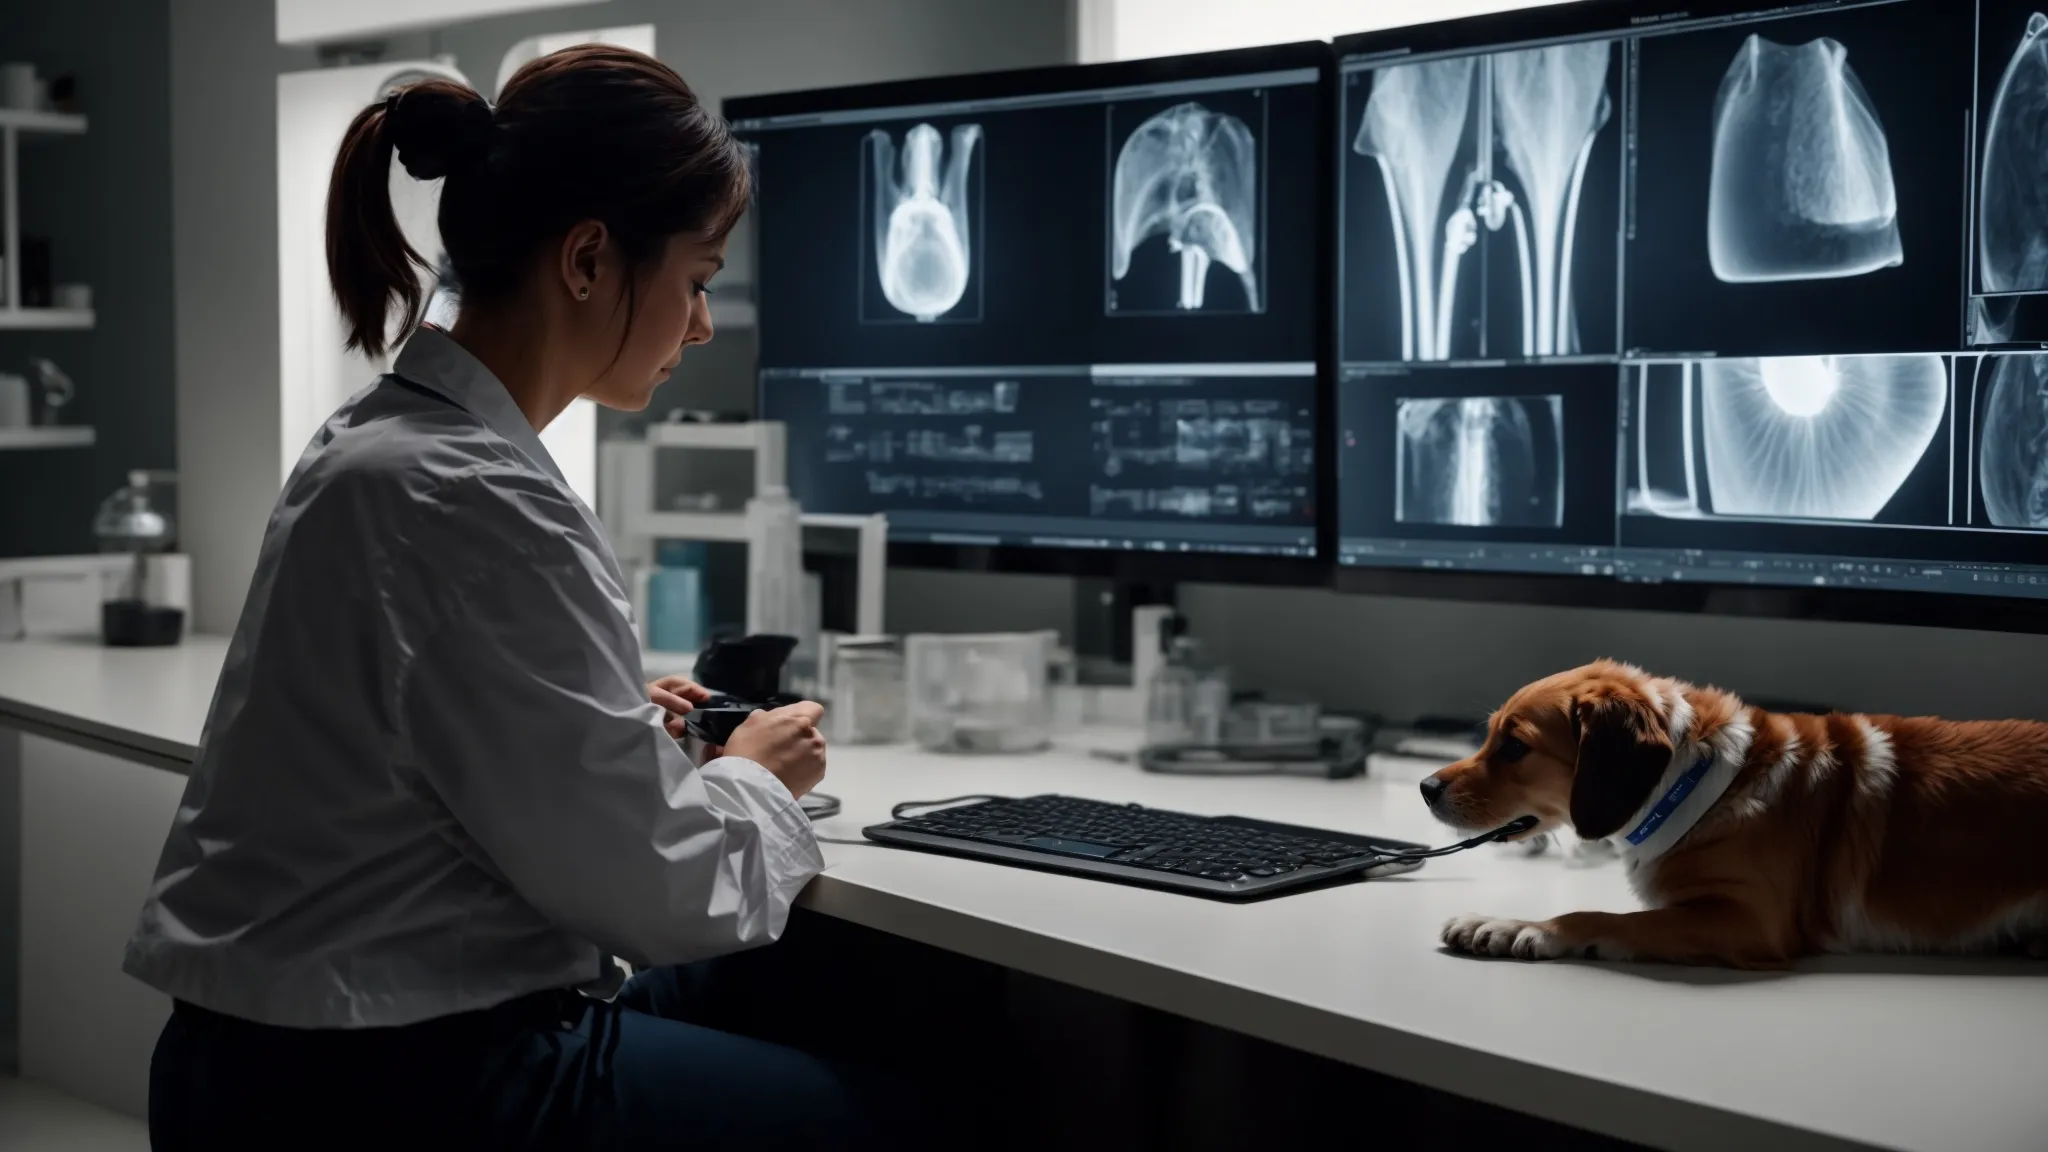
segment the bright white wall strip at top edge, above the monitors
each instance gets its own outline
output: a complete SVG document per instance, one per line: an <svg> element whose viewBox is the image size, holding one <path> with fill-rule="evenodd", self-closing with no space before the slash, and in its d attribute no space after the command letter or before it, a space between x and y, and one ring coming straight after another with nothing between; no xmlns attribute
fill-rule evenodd
<svg viewBox="0 0 2048 1152"><path fill-rule="evenodd" d="M1077 4L1083 61L1315 41L1536 6L1528 0L1077 0Z"/></svg>

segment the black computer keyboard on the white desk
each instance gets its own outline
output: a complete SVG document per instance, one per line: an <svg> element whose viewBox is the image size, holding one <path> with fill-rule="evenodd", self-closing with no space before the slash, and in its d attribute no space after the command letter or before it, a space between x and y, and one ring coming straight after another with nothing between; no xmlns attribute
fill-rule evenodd
<svg viewBox="0 0 2048 1152"><path fill-rule="evenodd" d="M870 840L1096 879L1249 898L1364 871L1409 871L1407 840L1071 795L979 799L864 828Z"/></svg>

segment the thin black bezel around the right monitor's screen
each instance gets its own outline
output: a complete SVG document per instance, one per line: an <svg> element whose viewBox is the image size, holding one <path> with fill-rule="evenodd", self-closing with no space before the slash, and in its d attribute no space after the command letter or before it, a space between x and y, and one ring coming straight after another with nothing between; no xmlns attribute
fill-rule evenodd
<svg viewBox="0 0 2048 1152"><path fill-rule="evenodd" d="M1851 2L1860 4L1862 0ZM1825 0L1812 4L1815 10L1835 6L1849 4L1829 4ZM1516 8L1509 12L1489 12L1335 37L1331 41L1331 53L1339 74L1331 84L1331 90L1333 107L1337 109L1335 115L1339 119L1337 133L1341 135L1341 68L1350 57L1384 55L1393 61L1401 55L1479 51L1597 33L1626 37L1655 31L1659 25L1677 18L1694 20L1739 16L1757 12L1759 8L1763 8L1759 0L1573 0L1542 8ZM1331 252L1331 264L1335 264L1335 260L1337 254ZM1331 283L1335 285L1335 269L1331 271ZM1335 291L1331 293L1331 324L1335 326ZM1331 355L1335 363L1335 351ZM1331 389L1331 400L1335 400L1335 387ZM1331 420L1329 428L1329 451L1331 459L1335 459L1335 420ZM1329 508L1335 519L1335 500ZM1417 570L1399 566L1350 566L1339 562L1335 549L1331 551L1331 586L1339 592L1356 594L2048 633L2048 601L2025 596L1802 584L1731 584L1708 580L1634 582L1620 580L1616 576L1546 572L1458 572L1440 568Z"/></svg>

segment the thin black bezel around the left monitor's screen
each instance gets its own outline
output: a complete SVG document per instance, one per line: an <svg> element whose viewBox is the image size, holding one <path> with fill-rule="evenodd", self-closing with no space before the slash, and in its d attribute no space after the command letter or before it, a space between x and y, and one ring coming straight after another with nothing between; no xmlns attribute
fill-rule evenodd
<svg viewBox="0 0 2048 1152"><path fill-rule="evenodd" d="M838 113L850 109L881 109L891 105L926 105L954 100L995 100L1034 92L1077 92L1087 88L1122 88L1143 84L1171 84L1178 80L1202 80L1210 76L1235 76L1251 72L1280 72L1296 68L1317 70L1317 117L1319 137L1333 141L1335 123L1335 68L1337 59L1327 41L1300 41L1266 47L1245 47L1229 51L1206 51L1194 55L1165 55L1151 59L1120 59L1112 64L1061 64L1049 68L1020 68L1010 72L979 72L958 76L934 76L920 80L891 80L883 84L856 84L846 88L811 88L803 92L776 92L766 96L735 96L723 102L729 121L788 117L807 113ZM1323 148L1315 156L1311 172L1317 189L1319 234L1329 236L1335 219L1335 152ZM954 545L954 543L913 543L889 541L889 564L899 568L948 568L961 572L1020 572L1042 576L1087 576L1128 582L1200 582L1200 584L1280 584L1280 586L1327 586L1337 553L1337 463L1333 457L1335 433L1335 316L1327 305L1335 297L1337 260L1329 246L1317 250L1315 277L1317 307L1315 318L1315 556L1257 556L1231 551L1165 551L1165 549L1083 549L1083 547L1026 547L1026 545ZM754 379L754 402L760 410L760 373Z"/></svg>

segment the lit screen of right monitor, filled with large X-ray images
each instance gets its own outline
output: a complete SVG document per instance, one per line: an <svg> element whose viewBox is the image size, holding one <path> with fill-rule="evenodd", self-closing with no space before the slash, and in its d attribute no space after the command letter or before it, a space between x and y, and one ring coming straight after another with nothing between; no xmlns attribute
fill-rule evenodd
<svg viewBox="0 0 2048 1152"><path fill-rule="evenodd" d="M1339 586L2048 627L2036 8L1339 39Z"/></svg>

